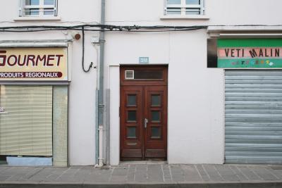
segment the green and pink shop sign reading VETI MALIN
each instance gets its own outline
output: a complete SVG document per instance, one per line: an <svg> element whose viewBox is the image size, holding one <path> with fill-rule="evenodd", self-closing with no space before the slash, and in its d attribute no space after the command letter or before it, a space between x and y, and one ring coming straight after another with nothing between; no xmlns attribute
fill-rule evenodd
<svg viewBox="0 0 282 188"><path fill-rule="evenodd" d="M218 39L218 68L282 68L282 39Z"/></svg>

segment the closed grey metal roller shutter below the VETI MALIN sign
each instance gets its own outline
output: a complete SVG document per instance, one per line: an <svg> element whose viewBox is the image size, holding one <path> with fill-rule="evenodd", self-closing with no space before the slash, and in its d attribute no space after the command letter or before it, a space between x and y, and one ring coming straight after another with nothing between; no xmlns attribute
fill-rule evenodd
<svg viewBox="0 0 282 188"><path fill-rule="evenodd" d="M226 163L282 163L282 70L226 70Z"/></svg>

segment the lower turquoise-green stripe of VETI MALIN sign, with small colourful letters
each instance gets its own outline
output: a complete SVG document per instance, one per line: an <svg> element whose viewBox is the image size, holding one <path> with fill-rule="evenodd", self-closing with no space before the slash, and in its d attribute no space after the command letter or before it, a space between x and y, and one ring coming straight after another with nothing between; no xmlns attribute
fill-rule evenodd
<svg viewBox="0 0 282 188"><path fill-rule="evenodd" d="M218 68L282 68L279 58L218 59Z"/></svg>

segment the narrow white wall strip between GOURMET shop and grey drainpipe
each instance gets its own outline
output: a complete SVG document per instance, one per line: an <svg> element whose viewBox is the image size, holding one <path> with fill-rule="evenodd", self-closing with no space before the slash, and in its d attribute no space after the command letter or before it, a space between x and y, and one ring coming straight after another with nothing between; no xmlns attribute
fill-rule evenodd
<svg viewBox="0 0 282 188"><path fill-rule="evenodd" d="M85 68L97 65L97 54L90 44L91 35L85 38ZM71 165L95 163L95 90L97 70L84 73L81 65L82 42L73 45L72 80L69 106L69 155Z"/></svg>

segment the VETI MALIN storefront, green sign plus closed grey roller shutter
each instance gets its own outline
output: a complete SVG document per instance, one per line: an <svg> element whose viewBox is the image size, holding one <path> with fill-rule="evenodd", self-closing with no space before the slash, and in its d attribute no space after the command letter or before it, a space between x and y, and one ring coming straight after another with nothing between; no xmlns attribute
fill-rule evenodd
<svg viewBox="0 0 282 188"><path fill-rule="evenodd" d="M225 163L282 161L282 39L217 39L225 69Z"/></svg>

